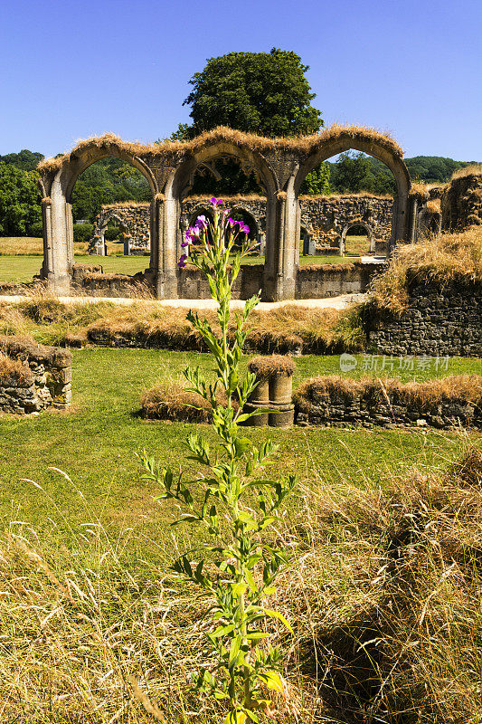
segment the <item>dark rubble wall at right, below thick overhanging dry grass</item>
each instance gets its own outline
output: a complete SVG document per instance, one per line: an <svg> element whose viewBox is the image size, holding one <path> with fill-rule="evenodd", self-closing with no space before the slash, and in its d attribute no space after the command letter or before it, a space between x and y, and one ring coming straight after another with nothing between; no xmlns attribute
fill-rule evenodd
<svg viewBox="0 0 482 724"><path fill-rule="evenodd" d="M371 306L365 325L378 354L481 357L482 286L413 284L400 317Z"/></svg>

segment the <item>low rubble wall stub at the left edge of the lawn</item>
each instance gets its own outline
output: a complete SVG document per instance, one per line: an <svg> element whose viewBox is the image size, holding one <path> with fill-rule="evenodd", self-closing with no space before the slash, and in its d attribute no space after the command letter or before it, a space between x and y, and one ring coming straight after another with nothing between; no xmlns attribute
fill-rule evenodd
<svg viewBox="0 0 482 724"><path fill-rule="evenodd" d="M1 338L0 351L24 367L23 374L0 383L0 413L33 414L71 404L71 352L14 337Z"/></svg>

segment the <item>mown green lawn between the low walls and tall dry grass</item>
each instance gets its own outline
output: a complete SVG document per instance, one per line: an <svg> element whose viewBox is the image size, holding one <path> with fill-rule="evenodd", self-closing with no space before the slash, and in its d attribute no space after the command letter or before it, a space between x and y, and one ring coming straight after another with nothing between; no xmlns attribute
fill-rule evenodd
<svg viewBox="0 0 482 724"><path fill-rule="evenodd" d="M354 376L364 373L362 358ZM243 364L247 363L245 357ZM146 449L175 470L184 462L187 433L200 430L213 441L209 426L146 422L139 416L143 390L179 375L188 364L209 370L209 355L140 349L90 348L72 352L73 400L70 412L36 418L0 415L0 514L40 532L48 529L69 544L86 524L100 521L115 536L135 528L136 555L156 556L169 549L172 506L159 509L156 488L141 478L136 453ZM394 370L402 379L460 374L477 369L477 360L449 360L448 370ZM294 386L302 379L339 373L339 357L301 357ZM460 434L418 430L300 428L249 429L254 443L267 437L279 443L272 465L263 472L277 478L297 472L302 483L360 488L384 485L417 462L444 468L460 451ZM68 474L67 481L58 468ZM27 479L27 480L25 480ZM41 486L42 490L37 487ZM291 505L302 505L295 496ZM161 514L160 510L164 513ZM166 512L167 511L167 512ZM156 543L153 544L152 541ZM165 548L167 546L167 548ZM165 553L163 554L165 555Z"/></svg>

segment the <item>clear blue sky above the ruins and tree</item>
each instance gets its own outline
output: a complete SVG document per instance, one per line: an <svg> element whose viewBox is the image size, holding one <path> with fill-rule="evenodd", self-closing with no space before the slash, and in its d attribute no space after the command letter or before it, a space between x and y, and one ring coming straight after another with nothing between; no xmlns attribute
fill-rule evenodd
<svg viewBox="0 0 482 724"><path fill-rule="evenodd" d="M206 58L276 46L310 66L327 125L481 160L481 31L480 0L0 0L0 154L164 138Z"/></svg>

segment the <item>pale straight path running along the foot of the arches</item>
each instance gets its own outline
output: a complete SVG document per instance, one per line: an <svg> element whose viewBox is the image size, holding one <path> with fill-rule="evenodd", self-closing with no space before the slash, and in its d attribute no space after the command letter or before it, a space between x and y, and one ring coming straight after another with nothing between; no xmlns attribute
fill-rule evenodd
<svg viewBox="0 0 482 724"><path fill-rule="evenodd" d="M334 309L344 310L346 307L350 307L352 304L366 299L366 294L341 294L338 297L328 297L323 300L286 300L286 301L260 301L257 306L257 310L269 311L276 310L279 307L285 307L287 305L295 307L309 307L310 309ZM6 302L17 302L28 299L21 295L14 296L0 296L0 303ZM125 297L58 297L59 301L64 304L86 304L94 303L98 301L110 301L113 304L120 306L128 306L141 301L142 304L148 304L153 307L177 307L178 309L194 309L194 310L213 310L216 308L216 303L213 300L136 300L128 299ZM233 310L239 310L243 307L244 300L233 300L231 308Z"/></svg>

